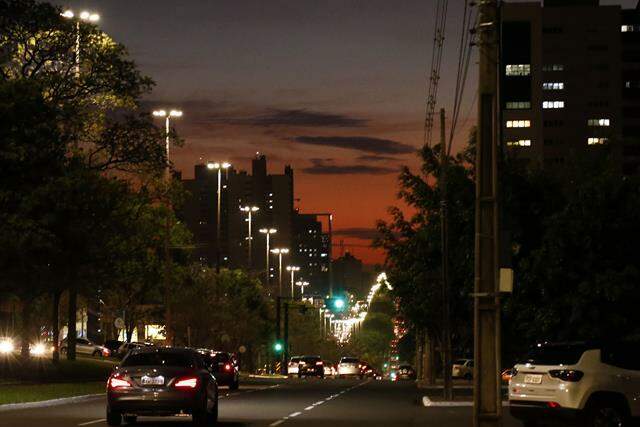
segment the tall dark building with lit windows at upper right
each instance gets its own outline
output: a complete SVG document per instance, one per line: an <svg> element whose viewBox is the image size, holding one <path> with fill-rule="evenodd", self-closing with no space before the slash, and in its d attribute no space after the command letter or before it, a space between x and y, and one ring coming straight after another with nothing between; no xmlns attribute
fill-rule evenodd
<svg viewBox="0 0 640 427"><path fill-rule="evenodd" d="M545 169L614 144L640 166L640 10L598 0L502 3L502 142Z"/></svg>

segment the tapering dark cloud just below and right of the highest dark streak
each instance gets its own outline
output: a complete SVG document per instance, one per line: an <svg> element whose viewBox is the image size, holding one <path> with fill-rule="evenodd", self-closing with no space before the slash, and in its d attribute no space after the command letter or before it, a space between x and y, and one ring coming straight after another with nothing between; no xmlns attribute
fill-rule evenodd
<svg viewBox="0 0 640 427"><path fill-rule="evenodd" d="M347 148L374 154L408 154L416 151L415 147L402 142L369 136L296 136L293 140L300 144Z"/></svg>

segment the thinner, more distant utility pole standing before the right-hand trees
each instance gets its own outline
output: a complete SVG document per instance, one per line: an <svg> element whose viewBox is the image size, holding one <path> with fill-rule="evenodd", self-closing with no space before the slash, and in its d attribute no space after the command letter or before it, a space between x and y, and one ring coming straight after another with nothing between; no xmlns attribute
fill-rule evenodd
<svg viewBox="0 0 640 427"><path fill-rule="evenodd" d="M449 230L447 218L447 143L445 139L444 108L440 109L440 234L442 240L442 355L443 394L445 400L453 400L451 380L451 315L449 298Z"/></svg>

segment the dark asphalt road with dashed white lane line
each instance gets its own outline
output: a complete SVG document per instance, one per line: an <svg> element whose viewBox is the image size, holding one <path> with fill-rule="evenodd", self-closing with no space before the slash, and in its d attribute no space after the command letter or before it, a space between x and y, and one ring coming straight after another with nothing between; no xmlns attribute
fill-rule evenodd
<svg viewBox="0 0 640 427"><path fill-rule="evenodd" d="M279 380L221 389L222 427L471 426L470 407L418 404L412 383L358 380ZM104 397L48 408L0 412L2 427L104 427ZM521 424L505 417L505 427ZM141 418L140 425L185 426L184 418Z"/></svg>

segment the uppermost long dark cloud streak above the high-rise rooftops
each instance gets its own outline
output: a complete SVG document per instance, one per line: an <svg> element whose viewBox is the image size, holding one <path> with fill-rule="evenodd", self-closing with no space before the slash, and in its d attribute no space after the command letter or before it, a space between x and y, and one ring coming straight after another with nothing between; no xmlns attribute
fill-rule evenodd
<svg viewBox="0 0 640 427"><path fill-rule="evenodd" d="M229 123L248 126L362 127L367 120L318 111L269 109L251 117L231 118Z"/></svg>

